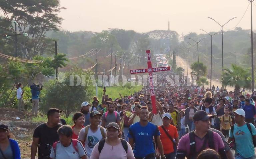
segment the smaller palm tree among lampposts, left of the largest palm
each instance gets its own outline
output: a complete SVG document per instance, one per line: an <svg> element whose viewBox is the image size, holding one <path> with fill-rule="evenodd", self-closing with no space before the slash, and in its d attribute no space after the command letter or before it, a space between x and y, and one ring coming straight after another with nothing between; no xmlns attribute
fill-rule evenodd
<svg viewBox="0 0 256 159"><path fill-rule="evenodd" d="M203 62L194 62L190 68L193 70L190 74L196 75L196 81L199 81L201 76L206 75L207 67Z"/></svg>

